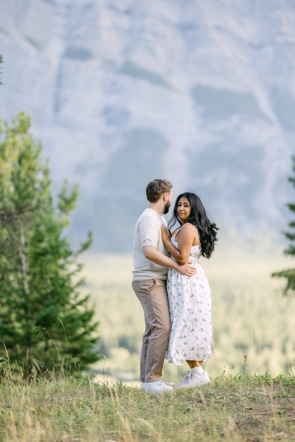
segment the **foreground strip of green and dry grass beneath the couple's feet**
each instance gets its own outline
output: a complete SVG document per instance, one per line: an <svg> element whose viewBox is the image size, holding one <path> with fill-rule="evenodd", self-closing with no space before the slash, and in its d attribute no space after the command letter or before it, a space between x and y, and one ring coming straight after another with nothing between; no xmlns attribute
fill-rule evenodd
<svg viewBox="0 0 295 442"><path fill-rule="evenodd" d="M0 440L291 441L295 378L216 376L196 389L149 395L105 378L8 378L0 384Z"/></svg>

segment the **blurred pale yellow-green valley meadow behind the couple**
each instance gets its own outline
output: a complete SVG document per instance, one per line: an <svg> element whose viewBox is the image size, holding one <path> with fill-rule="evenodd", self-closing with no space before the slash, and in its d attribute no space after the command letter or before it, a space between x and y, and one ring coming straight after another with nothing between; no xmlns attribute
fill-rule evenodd
<svg viewBox="0 0 295 442"><path fill-rule="evenodd" d="M212 292L213 355L206 370L238 373L246 354L249 373L286 374L289 364L295 365L295 297L283 297L284 282L270 274L294 263L263 236L260 248L234 236L230 247L220 243L213 257L202 262ZM91 293L106 356L94 368L101 372L110 367L122 380L138 379L144 330L142 307L131 288L132 268L130 255L100 254L88 255L84 267L83 291ZM186 365L165 361L165 375L186 370Z"/></svg>

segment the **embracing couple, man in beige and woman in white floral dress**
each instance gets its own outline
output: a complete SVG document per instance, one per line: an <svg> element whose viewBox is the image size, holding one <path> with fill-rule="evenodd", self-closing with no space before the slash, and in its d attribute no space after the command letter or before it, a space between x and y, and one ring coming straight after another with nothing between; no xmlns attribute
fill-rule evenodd
<svg viewBox="0 0 295 442"><path fill-rule="evenodd" d="M210 382L203 361L211 356L211 292L200 265L209 258L218 228L199 197L191 192L176 198L167 225L162 214L172 202L172 184L153 179L146 187L149 207L134 229L132 288L142 304L140 380L150 393L189 388ZM172 231L178 224L179 227ZM191 370L179 383L162 381L164 359Z"/></svg>

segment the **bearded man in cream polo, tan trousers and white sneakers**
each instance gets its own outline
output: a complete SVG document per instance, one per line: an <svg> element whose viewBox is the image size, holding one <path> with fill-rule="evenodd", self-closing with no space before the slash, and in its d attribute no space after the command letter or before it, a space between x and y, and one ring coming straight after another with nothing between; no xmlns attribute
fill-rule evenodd
<svg viewBox="0 0 295 442"><path fill-rule="evenodd" d="M142 304L146 324L140 361L142 389L158 393L172 390L161 381L171 329L166 289L168 267L187 276L193 276L196 271L189 263L180 265L169 258L162 241L161 224L167 227L167 223L161 215L169 211L172 184L166 179L153 179L146 187L146 197L149 207L138 218L134 229L132 288Z"/></svg>

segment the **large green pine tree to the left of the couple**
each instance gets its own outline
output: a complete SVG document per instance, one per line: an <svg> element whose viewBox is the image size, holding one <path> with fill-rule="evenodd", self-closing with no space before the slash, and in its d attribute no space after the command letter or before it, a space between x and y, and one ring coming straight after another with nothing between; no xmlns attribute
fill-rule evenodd
<svg viewBox="0 0 295 442"><path fill-rule="evenodd" d="M69 367L99 358L98 324L79 294L77 263L92 237L74 253L63 235L78 189L69 192L65 182L54 207L48 163L30 125L24 113L11 127L0 125L0 346L26 375L33 366L51 370L61 360Z"/></svg>

